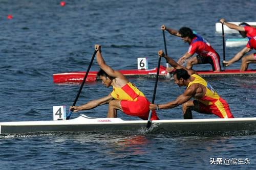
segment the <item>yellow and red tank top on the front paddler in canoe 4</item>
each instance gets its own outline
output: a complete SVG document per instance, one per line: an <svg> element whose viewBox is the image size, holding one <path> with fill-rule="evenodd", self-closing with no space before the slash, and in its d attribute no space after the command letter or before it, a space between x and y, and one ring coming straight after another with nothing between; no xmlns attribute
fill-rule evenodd
<svg viewBox="0 0 256 170"><path fill-rule="evenodd" d="M144 94L131 82L129 82L125 84L123 87L113 86L111 96L117 100L137 101L137 97L144 97Z"/></svg>

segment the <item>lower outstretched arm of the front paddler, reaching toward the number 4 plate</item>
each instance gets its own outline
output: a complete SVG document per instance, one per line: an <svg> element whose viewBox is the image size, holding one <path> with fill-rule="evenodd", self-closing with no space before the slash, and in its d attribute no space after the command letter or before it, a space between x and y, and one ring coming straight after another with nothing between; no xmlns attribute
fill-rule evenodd
<svg viewBox="0 0 256 170"><path fill-rule="evenodd" d="M113 97L111 96L111 93L110 93L109 95L105 96L104 98L90 101L87 104L84 104L81 106L71 106L70 110L72 110L73 112L78 112L81 110L90 110L97 106L108 104L112 100L113 100Z"/></svg>

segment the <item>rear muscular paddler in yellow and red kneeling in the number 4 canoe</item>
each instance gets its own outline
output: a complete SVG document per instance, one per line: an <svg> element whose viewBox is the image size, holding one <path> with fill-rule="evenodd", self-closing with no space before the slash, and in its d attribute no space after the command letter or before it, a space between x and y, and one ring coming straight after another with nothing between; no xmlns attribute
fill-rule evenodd
<svg viewBox="0 0 256 170"><path fill-rule="evenodd" d="M227 102L194 70L179 65L172 58L165 56L162 50L158 54L176 68L174 72L175 83L178 86L187 86L187 89L175 101L159 105L151 104L150 110L170 109L182 105L185 119L192 118L191 110L199 113L215 114L220 118L233 118ZM191 98L196 100L190 100Z"/></svg>

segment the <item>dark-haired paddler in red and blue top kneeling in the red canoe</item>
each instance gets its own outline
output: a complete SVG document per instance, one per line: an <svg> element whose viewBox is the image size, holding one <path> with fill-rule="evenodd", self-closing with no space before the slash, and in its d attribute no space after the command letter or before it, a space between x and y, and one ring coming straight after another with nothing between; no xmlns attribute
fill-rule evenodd
<svg viewBox="0 0 256 170"><path fill-rule="evenodd" d="M182 27L177 31L162 25L161 29L166 30L172 35L181 37L184 42L189 44L188 51L178 60L178 64L182 65L189 58L186 65L188 69L191 69L195 64L211 64L212 70L221 71L219 54L212 48L209 42L193 32L190 28ZM192 57L195 53L198 56ZM172 69L170 68L168 71L172 71Z"/></svg>

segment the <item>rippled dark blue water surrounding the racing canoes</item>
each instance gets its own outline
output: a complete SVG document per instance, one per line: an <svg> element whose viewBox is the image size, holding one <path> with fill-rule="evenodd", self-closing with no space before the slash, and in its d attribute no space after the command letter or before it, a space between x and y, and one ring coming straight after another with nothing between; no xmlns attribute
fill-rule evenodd
<svg viewBox="0 0 256 170"><path fill-rule="evenodd" d="M136 69L137 58L157 65L163 49L160 27L187 26L206 38L222 56L222 37L215 22L256 21L255 1L1 1L0 2L0 122L51 120L52 107L73 104L79 85L53 84L59 72L86 70L96 43L115 69ZM13 19L7 19L12 14ZM229 34L227 38L238 37ZM169 56L178 59L188 48L166 34ZM226 48L230 59L243 47ZM164 65L164 61L162 61ZM237 62L230 68L239 68ZM195 69L208 69L196 66ZM250 65L249 68L256 68ZM98 70L94 62L91 70ZM131 79L152 99L155 80ZM207 78L236 117L255 117L256 81L251 77ZM172 80L160 80L156 103L182 93ZM100 82L86 84L77 105L108 94ZM107 106L81 112L104 117ZM181 107L158 112L160 119L182 118ZM72 118L78 116L73 114ZM119 112L125 120L137 119ZM194 118L216 118L194 113ZM87 134L0 136L1 169L255 169L256 135ZM222 165L210 164L221 158ZM224 159L250 164L225 165Z"/></svg>

